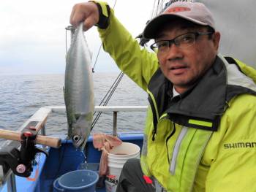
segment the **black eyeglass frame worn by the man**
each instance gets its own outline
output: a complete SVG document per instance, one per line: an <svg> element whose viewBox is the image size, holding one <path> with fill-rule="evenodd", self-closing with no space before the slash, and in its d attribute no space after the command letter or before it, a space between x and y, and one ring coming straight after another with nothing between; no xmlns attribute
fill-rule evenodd
<svg viewBox="0 0 256 192"><path fill-rule="evenodd" d="M197 38L199 37L199 36L201 36L201 35L208 35L208 34L214 34L214 31L211 31L211 32L198 32L198 31L195 31L195 32L189 32L189 33L187 33L187 34L181 34L181 35L179 35L179 36L177 36L177 37L175 37L175 38L173 38L173 39L170 39L170 40L159 40L159 41L157 41L157 42L154 42L151 46L150 46L150 48L151 48L151 50L153 50L154 52L157 52L156 51L156 48L157 48L157 50L158 50L158 47L157 47L157 43L159 43L159 42L168 42L168 47L170 47L171 45L176 45L176 47L179 47L180 45L179 45L179 42L176 42L176 39L178 39L179 37L181 37L181 36L186 36L186 35L188 35L188 34L193 34L193 35L195 35L195 40L194 40L194 43L195 43L195 41L197 40ZM192 44L193 45L193 44ZM189 46L187 46L187 47L190 47L190 45Z"/></svg>

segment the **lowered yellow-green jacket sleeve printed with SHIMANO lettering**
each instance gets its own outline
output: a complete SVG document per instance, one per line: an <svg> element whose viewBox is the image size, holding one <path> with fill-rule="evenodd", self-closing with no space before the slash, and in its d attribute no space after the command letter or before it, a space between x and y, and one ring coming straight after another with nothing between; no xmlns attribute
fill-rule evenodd
<svg viewBox="0 0 256 192"><path fill-rule="evenodd" d="M206 192L256 191L256 96L229 102L222 131L214 134L203 157L209 164Z"/></svg>

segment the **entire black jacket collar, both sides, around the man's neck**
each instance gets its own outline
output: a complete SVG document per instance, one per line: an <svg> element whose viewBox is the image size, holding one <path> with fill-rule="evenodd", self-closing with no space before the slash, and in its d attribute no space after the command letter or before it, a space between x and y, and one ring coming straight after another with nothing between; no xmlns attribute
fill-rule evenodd
<svg viewBox="0 0 256 192"><path fill-rule="evenodd" d="M172 98L172 88L173 84L160 69L148 84L148 90L157 103L159 117L167 113L170 120L182 126L217 131L228 95L227 69L222 58L217 56L213 66L185 93ZM241 92L241 88L238 90ZM228 99L234 95L228 95Z"/></svg>

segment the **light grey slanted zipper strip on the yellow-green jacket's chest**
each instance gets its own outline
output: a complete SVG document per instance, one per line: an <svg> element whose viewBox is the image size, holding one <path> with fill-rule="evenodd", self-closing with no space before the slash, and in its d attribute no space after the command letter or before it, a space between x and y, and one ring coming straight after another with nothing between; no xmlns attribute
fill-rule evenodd
<svg viewBox="0 0 256 192"><path fill-rule="evenodd" d="M184 139L184 137L186 136L187 131L188 131L188 128L184 126L181 129L181 133L178 135L178 138L177 138L176 143L174 145L172 161L170 162L170 173L171 174L175 173L176 161L177 161L177 157L178 157L178 151L180 150L181 142Z"/></svg>

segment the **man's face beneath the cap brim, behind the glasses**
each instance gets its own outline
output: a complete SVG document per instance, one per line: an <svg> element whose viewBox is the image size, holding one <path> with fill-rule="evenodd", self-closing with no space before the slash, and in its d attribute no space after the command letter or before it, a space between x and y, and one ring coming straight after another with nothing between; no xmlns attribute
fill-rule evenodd
<svg viewBox="0 0 256 192"><path fill-rule="evenodd" d="M208 32L206 27L193 26L187 28L186 20L176 20L170 26L165 26L159 33L156 42L169 40L189 32ZM219 47L219 32L197 37L190 47L176 47L172 44L165 53L158 52L162 73L173 83L178 93L183 93L201 77L214 63Z"/></svg>

